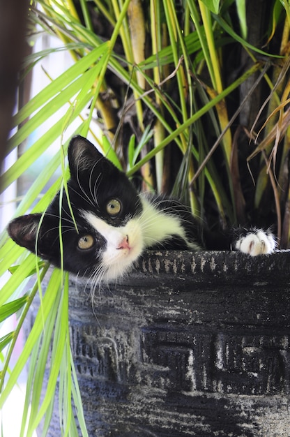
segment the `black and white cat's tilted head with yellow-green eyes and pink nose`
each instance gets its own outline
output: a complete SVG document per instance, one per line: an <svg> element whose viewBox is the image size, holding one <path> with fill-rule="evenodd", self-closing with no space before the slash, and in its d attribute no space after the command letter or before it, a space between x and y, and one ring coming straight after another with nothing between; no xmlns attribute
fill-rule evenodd
<svg viewBox="0 0 290 437"><path fill-rule="evenodd" d="M125 174L85 138L70 141L68 161L68 198L63 190L45 214L15 218L9 235L56 267L96 281L114 280L144 249L142 203Z"/></svg>

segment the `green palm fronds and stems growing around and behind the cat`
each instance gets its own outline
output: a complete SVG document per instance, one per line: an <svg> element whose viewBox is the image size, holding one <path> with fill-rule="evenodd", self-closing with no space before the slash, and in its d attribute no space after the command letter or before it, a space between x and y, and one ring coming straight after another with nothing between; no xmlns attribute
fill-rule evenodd
<svg viewBox="0 0 290 437"><path fill-rule="evenodd" d="M68 131L73 131L90 134L115 165L129 177L138 176L135 180L142 181L138 188L174 192L213 228L217 223L274 221L287 247L289 5L280 0L267 5L267 21L261 23L258 40L252 40L257 17L247 12L245 1L31 3L31 25L54 34L62 46L29 55L22 77L51 52L70 52L73 65L19 108L13 119L15 133L8 152L29 140L56 111L61 113L52 128L1 177L1 188L5 189L53 143L58 145L15 215L45 211L59 188L66 189L64 158ZM94 27L99 22L102 34L98 25ZM257 101L259 108L265 102L264 112L259 113L258 108L253 119L250 109ZM248 120L244 126L238 119L242 116ZM259 135L255 126L263 126ZM59 168L61 177L43 193ZM47 267L3 232L0 274L10 270L10 276L0 293L0 320L17 313L18 324L15 332L0 339L0 348L8 346L1 372L0 408L30 362L21 436L31 436L43 417L45 435L58 378L62 434L77 436L77 411L82 435L86 436L70 353L68 276L54 270L43 294L41 283L47 277ZM37 273L36 283L23 294L27 276L33 272ZM8 375L15 341L36 295L40 311ZM53 366L40 403L47 361Z"/></svg>

